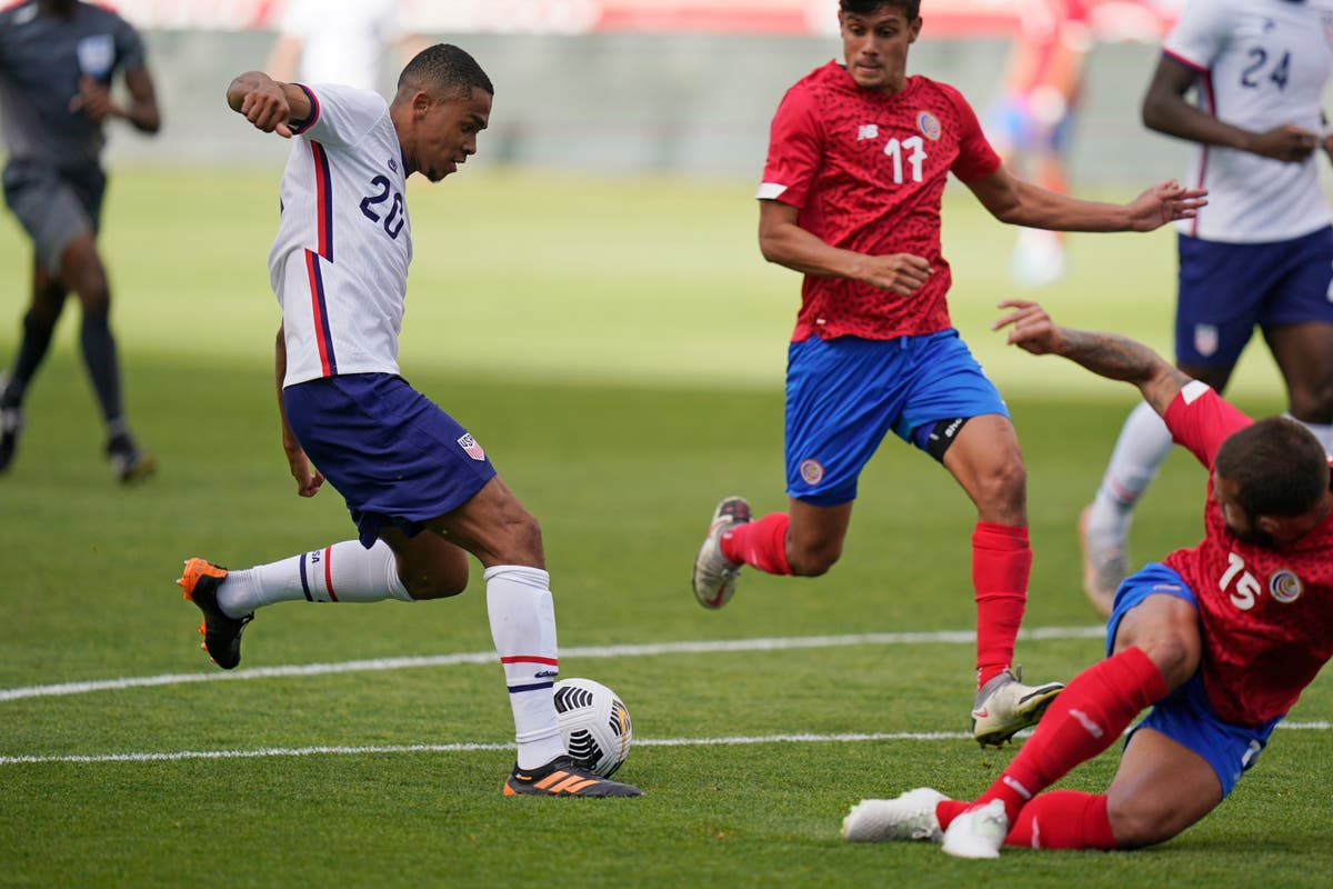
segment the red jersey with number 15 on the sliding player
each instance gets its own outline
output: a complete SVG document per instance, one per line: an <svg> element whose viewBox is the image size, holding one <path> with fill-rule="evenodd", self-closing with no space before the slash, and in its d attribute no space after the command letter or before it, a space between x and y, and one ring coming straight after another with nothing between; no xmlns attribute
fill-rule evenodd
<svg viewBox="0 0 1333 889"><path fill-rule="evenodd" d="M1232 432L1252 420L1201 383L1166 411L1176 441L1212 469ZM1226 529L1209 474L1206 536L1164 561L1198 602L1208 700L1236 725L1282 716L1333 657L1333 514L1300 540L1273 549Z"/></svg>

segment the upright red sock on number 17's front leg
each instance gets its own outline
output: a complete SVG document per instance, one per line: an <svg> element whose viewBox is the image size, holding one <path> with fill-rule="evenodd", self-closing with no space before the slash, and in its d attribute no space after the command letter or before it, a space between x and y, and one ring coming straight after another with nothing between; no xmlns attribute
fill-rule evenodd
<svg viewBox="0 0 1333 889"><path fill-rule="evenodd" d="M1013 641L1028 604L1032 546L1021 525L978 521L972 532L977 600L977 688L1013 664Z"/></svg>

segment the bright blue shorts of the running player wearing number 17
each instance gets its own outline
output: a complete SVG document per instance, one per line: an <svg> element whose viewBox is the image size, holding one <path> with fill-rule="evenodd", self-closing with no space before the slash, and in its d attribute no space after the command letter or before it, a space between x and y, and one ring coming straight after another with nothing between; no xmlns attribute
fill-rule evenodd
<svg viewBox="0 0 1333 889"><path fill-rule="evenodd" d="M954 329L862 340L812 336L786 357L786 493L816 506L856 500L856 482L892 431L1009 411Z"/></svg>

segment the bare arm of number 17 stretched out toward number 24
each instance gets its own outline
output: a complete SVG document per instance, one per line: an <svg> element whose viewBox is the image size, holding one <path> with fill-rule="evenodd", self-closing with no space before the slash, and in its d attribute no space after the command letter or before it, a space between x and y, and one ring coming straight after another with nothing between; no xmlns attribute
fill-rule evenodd
<svg viewBox="0 0 1333 889"><path fill-rule="evenodd" d="M1057 232L1150 232L1178 219L1192 219L1208 204L1208 191L1176 180L1153 185L1128 204L1088 201L1025 183L1000 167L966 184L1001 223Z"/></svg>

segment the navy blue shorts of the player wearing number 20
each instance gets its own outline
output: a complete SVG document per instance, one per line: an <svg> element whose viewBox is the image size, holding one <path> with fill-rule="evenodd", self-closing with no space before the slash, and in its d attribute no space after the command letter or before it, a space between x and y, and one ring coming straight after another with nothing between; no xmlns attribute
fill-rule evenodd
<svg viewBox="0 0 1333 889"><path fill-rule="evenodd" d="M468 431L399 376L299 383L283 391L283 405L305 456L347 500L367 549L384 525L419 534L496 474Z"/></svg>

